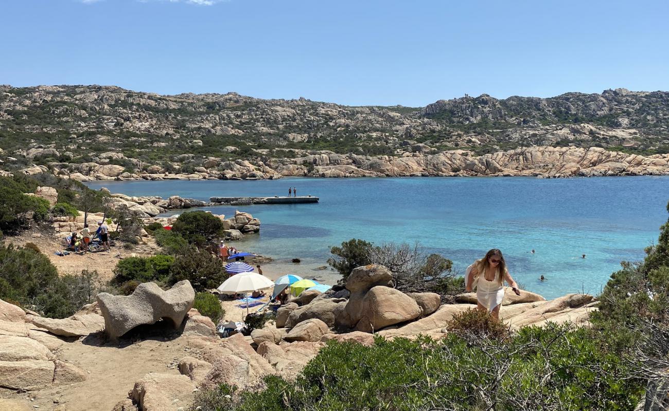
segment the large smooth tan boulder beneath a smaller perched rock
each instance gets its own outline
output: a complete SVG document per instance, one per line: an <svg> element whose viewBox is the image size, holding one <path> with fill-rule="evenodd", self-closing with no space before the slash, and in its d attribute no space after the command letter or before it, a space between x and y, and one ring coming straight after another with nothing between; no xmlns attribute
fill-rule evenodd
<svg viewBox="0 0 669 411"><path fill-rule="evenodd" d="M415 319L421 315L421 312L421 307L405 293L377 285L365 294L363 316L358 321L356 329L374 332L388 325Z"/></svg>

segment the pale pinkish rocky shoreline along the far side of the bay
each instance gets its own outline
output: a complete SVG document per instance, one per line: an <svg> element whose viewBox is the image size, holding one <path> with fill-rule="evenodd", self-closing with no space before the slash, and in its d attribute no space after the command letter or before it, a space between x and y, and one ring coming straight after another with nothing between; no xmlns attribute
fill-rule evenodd
<svg viewBox="0 0 669 411"><path fill-rule="evenodd" d="M428 148L429 149L429 148ZM429 150L428 150L429 151ZM95 180L275 180L282 177L407 177L407 176L573 176L669 175L669 154L640 156L603 148L535 146L476 156L467 150L437 154L403 152L401 156L361 156L330 151L297 158L223 161L208 158L192 173L169 172L161 166L127 159L120 153L100 154L98 162L50 163L21 172L50 172L79 181ZM112 159L136 161L135 172L110 164ZM175 163L178 167L179 164ZM200 207L193 205L192 207ZM177 207L175 207L177 208ZM183 208L183 207L182 207Z"/></svg>

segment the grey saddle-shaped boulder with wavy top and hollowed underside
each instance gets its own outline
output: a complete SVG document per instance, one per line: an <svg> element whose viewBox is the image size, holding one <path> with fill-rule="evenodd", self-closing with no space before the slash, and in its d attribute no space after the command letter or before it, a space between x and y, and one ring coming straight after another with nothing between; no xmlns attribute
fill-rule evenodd
<svg viewBox="0 0 669 411"><path fill-rule="evenodd" d="M111 339L118 339L137 325L169 319L175 329L193 307L195 291L188 280L179 281L163 291L155 283L142 283L131 295L98 294L104 317L104 329Z"/></svg>

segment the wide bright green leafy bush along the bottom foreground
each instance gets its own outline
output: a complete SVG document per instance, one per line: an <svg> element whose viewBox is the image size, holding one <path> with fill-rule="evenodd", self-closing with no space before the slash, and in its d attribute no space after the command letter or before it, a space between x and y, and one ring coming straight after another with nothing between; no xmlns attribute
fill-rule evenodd
<svg viewBox="0 0 669 411"><path fill-rule="evenodd" d="M193 408L631 411L644 392L626 362L597 350L589 330L566 325L522 329L503 344L452 334L440 341L377 337L369 347L328 341L294 382L271 376L265 384L236 399L202 394L209 402Z"/></svg>

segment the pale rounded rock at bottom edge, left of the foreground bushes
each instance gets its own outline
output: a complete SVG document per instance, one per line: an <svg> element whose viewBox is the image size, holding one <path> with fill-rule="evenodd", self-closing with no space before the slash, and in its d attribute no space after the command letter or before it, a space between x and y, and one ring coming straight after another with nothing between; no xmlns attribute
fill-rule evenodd
<svg viewBox="0 0 669 411"><path fill-rule="evenodd" d="M142 411L177 411L193 400L195 385L187 376L150 372L128 394Z"/></svg>

